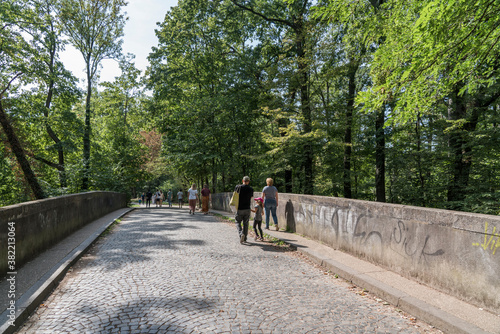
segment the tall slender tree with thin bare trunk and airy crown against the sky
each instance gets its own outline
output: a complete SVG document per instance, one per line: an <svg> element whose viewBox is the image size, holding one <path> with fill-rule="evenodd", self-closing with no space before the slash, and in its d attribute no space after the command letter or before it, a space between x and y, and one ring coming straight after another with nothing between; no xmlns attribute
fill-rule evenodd
<svg viewBox="0 0 500 334"><path fill-rule="evenodd" d="M104 59L121 53L125 0L62 0L61 20L71 44L83 56L87 75L85 130L83 135L84 175L82 190L89 189L92 84Z"/></svg>

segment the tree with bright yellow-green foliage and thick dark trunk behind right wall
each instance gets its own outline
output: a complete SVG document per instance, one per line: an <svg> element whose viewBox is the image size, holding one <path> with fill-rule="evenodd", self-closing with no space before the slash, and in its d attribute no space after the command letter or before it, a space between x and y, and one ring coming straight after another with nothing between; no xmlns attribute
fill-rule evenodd
<svg viewBox="0 0 500 334"><path fill-rule="evenodd" d="M372 71L383 80L364 94L363 102L383 107L394 101L391 113L402 122L435 110L436 104L446 105L450 208L459 209L468 194L479 117L500 97L498 4L389 1L390 15L375 25L384 43L375 53Z"/></svg>

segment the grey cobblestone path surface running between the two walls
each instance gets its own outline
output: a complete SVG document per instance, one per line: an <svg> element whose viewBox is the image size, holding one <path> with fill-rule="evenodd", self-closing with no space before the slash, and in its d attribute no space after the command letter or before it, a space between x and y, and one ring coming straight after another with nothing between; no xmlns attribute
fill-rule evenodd
<svg viewBox="0 0 500 334"><path fill-rule="evenodd" d="M178 209L127 215L20 333L418 333L270 243Z"/></svg>

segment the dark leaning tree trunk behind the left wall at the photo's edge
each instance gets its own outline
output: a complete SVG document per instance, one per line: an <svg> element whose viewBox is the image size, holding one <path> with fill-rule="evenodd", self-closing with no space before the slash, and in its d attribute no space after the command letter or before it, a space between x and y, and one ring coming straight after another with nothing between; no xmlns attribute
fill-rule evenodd
<svg viewBox="0 0 500 334"><path fill-rule="evenodd" d="M21 143L19 142L19 139L17 138L14 128L10 124L7 118L7 114L3 110L1 96L0 96L0 123L2 124L2 128L5 134L7 135L7 140L9 141L10 147L12 148L12 152L14 152L17 162L21 166L21 169L24 173L24 177L28 182L29 186L31 187L31 190L35 195L35 198L36 199L45 198L43 189L38 183L35 173L33 173L33 170L31 169L30 163L26 158L26 155L24 154L24 150L21 146Z"/></svg>

